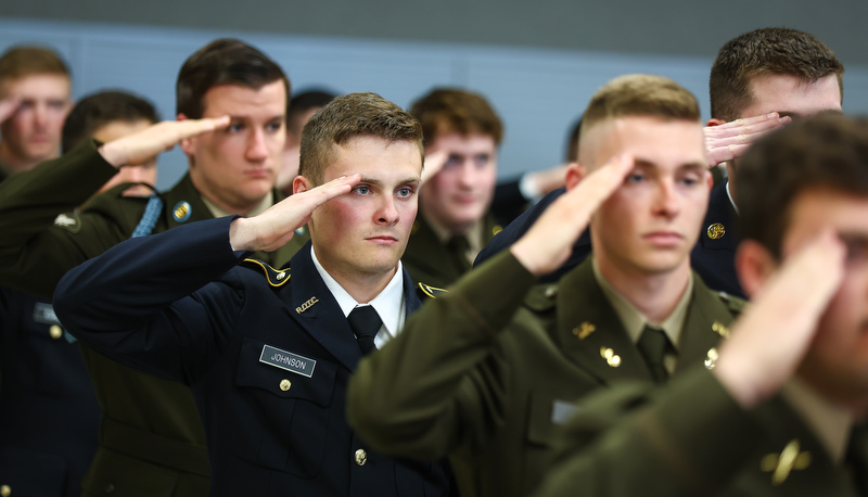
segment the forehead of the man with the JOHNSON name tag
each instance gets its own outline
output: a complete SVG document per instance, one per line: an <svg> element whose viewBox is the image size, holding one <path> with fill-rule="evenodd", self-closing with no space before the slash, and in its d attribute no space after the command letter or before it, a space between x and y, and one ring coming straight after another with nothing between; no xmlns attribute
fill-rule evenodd
<svg viewBox="0 0 868 497"><path fill-rule="evenodd" d="M334 145L334 161L326 166L326 180L361 173L362 180L407 181L422 173L422 155L412 141L362 135Z"/></svg>

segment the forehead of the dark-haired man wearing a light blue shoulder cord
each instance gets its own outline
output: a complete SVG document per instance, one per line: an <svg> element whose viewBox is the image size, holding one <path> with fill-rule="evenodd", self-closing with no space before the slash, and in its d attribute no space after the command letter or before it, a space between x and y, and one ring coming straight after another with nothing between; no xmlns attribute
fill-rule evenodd
<svg viewBox="0 0 868 497"><path fill-rule="evenodd" d="M214 117L229 114L232 117L251 117L265 114L270 118L286 114L286 89L282 79L254 89L240 85L218 85L202 98L203 114Z"/></svg>

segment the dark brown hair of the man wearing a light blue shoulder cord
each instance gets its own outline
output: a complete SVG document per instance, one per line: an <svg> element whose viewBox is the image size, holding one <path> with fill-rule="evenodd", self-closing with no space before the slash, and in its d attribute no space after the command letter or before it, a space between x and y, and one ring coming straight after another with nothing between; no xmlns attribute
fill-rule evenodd
<svg viewBox="0 0 868 497"><path fill-rule="evenodd" d="M275 61L241 40L214 40L190 55L181 66L175 87L177 112L199 119L205 112L205 93L216 86L258 90L278 80L283 81L289 106L290 80Z"/></svg>

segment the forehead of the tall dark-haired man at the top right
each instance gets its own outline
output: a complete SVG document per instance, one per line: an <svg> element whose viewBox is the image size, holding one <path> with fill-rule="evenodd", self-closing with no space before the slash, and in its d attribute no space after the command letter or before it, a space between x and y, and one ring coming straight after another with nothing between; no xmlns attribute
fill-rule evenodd
<svg viewBox="0 0 868 497"><path fill-rule="evenodd" d="M809 82L796 76L769 74L752 78L749 86L752 101L741 117L769 112L810 115L841 110L841 87L835 75Z"/></svg>

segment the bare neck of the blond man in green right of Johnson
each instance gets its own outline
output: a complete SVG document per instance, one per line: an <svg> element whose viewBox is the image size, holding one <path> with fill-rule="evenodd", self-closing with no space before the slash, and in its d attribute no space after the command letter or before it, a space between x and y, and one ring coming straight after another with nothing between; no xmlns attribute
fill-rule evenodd
<svg viewBox="0 0 868 497"><path fill-rule="evenodd" d="M651 273L638 268L617 267L598 252L593 257L609 284L649 321L665 321L678 306L690 282L689 260L669 271Z"/></svg>

